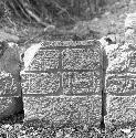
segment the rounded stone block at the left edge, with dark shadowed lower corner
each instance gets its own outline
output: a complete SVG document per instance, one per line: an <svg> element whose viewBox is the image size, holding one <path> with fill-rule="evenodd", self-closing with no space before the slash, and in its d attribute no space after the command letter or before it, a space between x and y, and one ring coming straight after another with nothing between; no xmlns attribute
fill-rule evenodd
<svg viewBox="0 0 136 138"><path fill-rule="evenodd" d="M1 46L2 47L2 46ZM21 98L20 63L17 49L3 45L0 59L0 123L22 121L23 103ZM19 119L20 115L22 116ZM18 118L17 118L18 116Z"/></svg>

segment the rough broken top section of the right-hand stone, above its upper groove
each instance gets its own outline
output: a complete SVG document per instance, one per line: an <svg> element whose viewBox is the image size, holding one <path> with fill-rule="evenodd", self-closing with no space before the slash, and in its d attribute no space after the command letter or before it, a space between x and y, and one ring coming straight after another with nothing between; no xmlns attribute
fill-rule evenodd
<svg viewBox="0 0 136 138"><path fill-rule="evenodd" d="M113 45L111 45L113 46ZM136 52L133 45L124 44L118 50L105 51L107 53L108 66L107 74L132 73L136 74Z"/></svg>

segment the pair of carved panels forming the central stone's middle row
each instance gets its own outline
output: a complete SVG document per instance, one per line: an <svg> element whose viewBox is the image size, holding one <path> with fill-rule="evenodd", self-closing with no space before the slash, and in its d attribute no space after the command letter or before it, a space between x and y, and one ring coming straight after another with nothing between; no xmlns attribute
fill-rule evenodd
<svg viewBox="0 0 136 138"><path fill-rule="evenodd" d="M23 74L23 94L101 95L101 74L98 72L64 72L62 82L60 75L60 73Z"/></svg>

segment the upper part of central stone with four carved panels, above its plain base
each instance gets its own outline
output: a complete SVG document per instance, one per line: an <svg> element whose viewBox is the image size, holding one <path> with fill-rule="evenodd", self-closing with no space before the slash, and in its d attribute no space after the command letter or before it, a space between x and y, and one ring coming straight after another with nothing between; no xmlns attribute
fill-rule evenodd
<svg viewBox="0 0 136 138"><path fill-rule="evenodd" d="M22 74L23 94L101 94L102 53L98 46L98 43L84 41L45 42L34 51L36 54L32 54L33 60Z"/></svg>

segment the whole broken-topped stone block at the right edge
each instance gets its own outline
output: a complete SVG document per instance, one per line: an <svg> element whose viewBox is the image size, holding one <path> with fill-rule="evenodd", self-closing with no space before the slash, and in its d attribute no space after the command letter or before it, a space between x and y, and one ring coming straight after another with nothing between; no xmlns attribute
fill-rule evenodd
<svg viewBox="0 0 136 138"><path fill-rule="evenodd" d="M135 52L128 44L124 44L108 55L106 74L106 110L105 123L122 125L136 119L135 92Z"/></svg>

